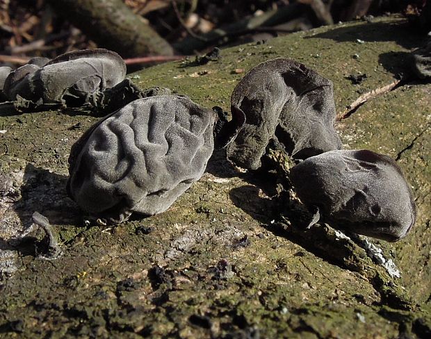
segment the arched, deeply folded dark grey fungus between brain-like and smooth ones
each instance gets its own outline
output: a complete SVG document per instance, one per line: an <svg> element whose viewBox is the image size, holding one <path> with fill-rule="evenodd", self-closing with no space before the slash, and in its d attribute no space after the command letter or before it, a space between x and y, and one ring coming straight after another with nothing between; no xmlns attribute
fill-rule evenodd
<svg viewBox="0 0 431 339"><path fill-rule="evenodd" d="M250 70L232 92L231 113L220 135L228 158L241 167L259 168L271 138L295 159L341 148L332 82L291 59Z"/></svg>

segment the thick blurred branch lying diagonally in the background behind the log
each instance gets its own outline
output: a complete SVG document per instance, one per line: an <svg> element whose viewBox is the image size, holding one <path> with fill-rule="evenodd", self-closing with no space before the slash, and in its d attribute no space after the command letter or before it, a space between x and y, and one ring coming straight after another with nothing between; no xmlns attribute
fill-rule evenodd
<svg viewBox="0 0 431 339"><path fill-rule="evenodd" d="M121 0L48 0L48 3L99 47L116 51L124 58L173 54L170 44Z"/></svg>

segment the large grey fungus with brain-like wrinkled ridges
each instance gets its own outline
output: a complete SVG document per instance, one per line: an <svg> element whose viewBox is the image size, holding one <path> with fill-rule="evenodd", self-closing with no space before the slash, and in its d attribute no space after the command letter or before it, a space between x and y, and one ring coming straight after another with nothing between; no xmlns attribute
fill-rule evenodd
<svg viewBox="0 0 431 339"><path fill-rule="evenodd" d="M92 126L69 158L70 197L90 218L161 213L200 179L215 114L185 97L138 99Z"/></svg>

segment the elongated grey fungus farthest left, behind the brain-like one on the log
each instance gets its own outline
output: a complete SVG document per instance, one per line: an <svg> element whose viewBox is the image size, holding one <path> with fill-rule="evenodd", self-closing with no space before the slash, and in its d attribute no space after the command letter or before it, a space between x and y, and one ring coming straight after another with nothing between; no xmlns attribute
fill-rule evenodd
<svg viewBox="0 0 431 339"><path fill-rule="evenodd" d="M113 51L72 51L49 62L35 58L15 69L6 78L4 92L10 101L34 106L71 103L81 106L97 101L101 92L117 85L125 76L126 65Z"/></svg>

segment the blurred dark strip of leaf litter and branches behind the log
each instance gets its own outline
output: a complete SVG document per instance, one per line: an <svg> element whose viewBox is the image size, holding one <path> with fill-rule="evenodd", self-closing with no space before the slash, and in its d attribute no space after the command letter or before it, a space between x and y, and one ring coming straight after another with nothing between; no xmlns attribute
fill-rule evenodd
<svg viewBox="0 0 431 339"><path fill-rule="evenodd" d="M95 3L99 7L93 10ZM429 4L426 0L1 0L0 65L17 67L33 56L54 58L74 49L104 47L120 53L128 65L144 67L215 46L393 13L427 31ZM262 15L268 19L257 23ZM223 33L213 36L215 28Z"/></svg>

